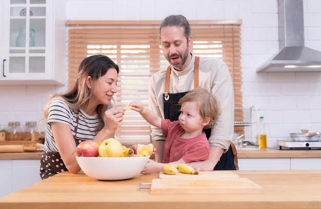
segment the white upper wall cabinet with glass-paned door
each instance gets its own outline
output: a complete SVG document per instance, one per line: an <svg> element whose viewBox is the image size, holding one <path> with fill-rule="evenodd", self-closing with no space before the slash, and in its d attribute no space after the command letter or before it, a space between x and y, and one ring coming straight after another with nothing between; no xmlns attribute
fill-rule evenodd
<svg viewBox="0 0 321 209"><path fill-rule="evenodd" d="M2 2L0 85L65 85L66 1Z"/></svg>

